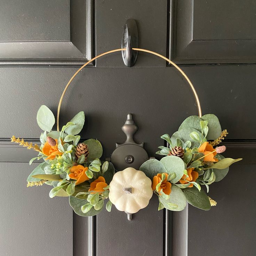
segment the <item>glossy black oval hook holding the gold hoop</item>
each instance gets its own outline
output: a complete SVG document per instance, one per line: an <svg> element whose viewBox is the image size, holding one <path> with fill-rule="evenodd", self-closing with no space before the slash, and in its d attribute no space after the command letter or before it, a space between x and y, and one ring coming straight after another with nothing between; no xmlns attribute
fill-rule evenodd
<svg viewBox="0 0 256 256"><path fill-rule="evenodd" d="M132 48L139 48L138 27L134 19L127 19L125 23L122 48L126 48L126 51L122 51L123 62L128 67L133 66L136 62L138 51L134 51Z"/></svg>

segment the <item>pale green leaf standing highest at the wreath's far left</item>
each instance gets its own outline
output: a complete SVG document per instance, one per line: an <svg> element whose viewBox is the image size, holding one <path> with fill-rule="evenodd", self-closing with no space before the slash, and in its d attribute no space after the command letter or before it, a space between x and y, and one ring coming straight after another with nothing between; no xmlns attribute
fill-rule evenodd
<svg viewBox="0 0 256 256"><path fill-rule="evenodd" d="M55 118L50 109L42 105L37 112L37 123L43 131L51 131L54 126Z"/></svg>

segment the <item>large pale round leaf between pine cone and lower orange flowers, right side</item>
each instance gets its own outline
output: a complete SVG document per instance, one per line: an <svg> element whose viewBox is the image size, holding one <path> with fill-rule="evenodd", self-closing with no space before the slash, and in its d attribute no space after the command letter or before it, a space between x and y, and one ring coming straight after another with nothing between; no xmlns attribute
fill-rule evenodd
<svg viewBox="0 0 256 256"><path fill-rule="evenodd" d="M163 164L168 174L176 174L176 178L171 181L172 183L176 183L181 179L185 168L184 162L181 158L175 157L174 155L168 155L167 157L163 157L160 162Z"/></svg>

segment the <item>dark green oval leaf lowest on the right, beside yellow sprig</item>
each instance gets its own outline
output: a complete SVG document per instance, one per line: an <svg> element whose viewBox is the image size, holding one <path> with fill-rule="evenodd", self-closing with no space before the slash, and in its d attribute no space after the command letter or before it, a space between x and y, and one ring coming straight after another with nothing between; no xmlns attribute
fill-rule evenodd
<svg viewBox="0 0 256 256"><path fill-rule="evenodd" d="M188 187L183 190L187 202L202 210L210 210L210 200L205 191L199 191L196 187Z"/></svg>

